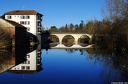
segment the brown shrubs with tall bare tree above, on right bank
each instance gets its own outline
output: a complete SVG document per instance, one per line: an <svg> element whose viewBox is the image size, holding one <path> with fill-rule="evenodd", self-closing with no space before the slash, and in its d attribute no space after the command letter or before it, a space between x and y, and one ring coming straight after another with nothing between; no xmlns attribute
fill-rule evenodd
<svg viewBox="0 0 128 84"><path fill-rule="evenodd" d="M106 0L108 15L102 21L90 21L94 43L115 52L128 52L128 1ZM127 54L128 56L128 54Z"/></svg>

